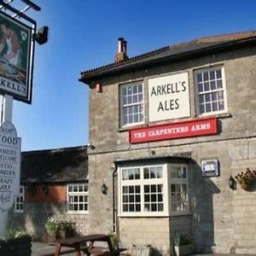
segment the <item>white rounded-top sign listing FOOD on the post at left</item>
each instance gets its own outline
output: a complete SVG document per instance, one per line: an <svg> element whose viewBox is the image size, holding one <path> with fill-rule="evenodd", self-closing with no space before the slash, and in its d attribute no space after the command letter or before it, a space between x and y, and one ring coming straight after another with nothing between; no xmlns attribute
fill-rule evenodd
<svg viewBox="0 0 256 256"><path fill-rule="evenodd" d="M20 144L15 125L4 122L0 126L0 209L13 206L20 190Z"/></svg>

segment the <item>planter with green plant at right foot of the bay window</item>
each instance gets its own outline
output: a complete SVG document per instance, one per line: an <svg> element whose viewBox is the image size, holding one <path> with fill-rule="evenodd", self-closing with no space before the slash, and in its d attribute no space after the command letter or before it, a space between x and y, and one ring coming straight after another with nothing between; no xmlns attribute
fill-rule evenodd
<svg viewBox="0 0 256 256"><path fill-rule="evenodd" d="M190 236L179 233L174 236L174 252L176 256L189 255L193 251L194 245Z"/></svg>

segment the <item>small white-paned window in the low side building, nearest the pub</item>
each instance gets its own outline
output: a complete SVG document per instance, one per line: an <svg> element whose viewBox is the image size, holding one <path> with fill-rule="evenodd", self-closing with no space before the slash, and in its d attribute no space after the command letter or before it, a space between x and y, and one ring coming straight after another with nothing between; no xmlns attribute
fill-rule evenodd
<svg viewBox="0 0 256 256"><path fill-rule="evenodd" d="M88 183L67 185L67 212L88 212Z"/></svg>

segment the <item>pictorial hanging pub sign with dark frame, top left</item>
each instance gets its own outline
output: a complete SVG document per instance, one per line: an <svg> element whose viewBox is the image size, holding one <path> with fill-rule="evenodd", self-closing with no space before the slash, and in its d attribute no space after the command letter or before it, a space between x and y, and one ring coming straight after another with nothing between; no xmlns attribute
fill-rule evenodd
<svg viewBox="0 0 256 256"><path fill-rule="evenodd" d="M31 103L32 28L0 12L0 93Z"/></svg>

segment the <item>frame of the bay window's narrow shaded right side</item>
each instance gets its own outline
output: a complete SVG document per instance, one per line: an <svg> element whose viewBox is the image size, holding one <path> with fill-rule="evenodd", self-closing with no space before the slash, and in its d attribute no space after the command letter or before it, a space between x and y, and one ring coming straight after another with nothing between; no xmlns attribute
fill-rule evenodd
<svg viewBox="0 0 256 256"><path fill-rule="evenodd" d="M172 172L174 168L180 168L185 170L186 172L186 177L172 177ZM190 213L190 196L189 196L189 166L188 165L183 165L183 164L170 164L168 165L168 174L169 174L169 189L170 189L170 214L171 215L183 215L183 214L189 214ZM173 209L172 207L172 185L177 185L177 186L186 186L186 194L181 193L181 200L177 201L180 203L180 208L179 210ZM180 191L183 192L183 191ZM184 205L187 205L185 208Z"/></svg>

